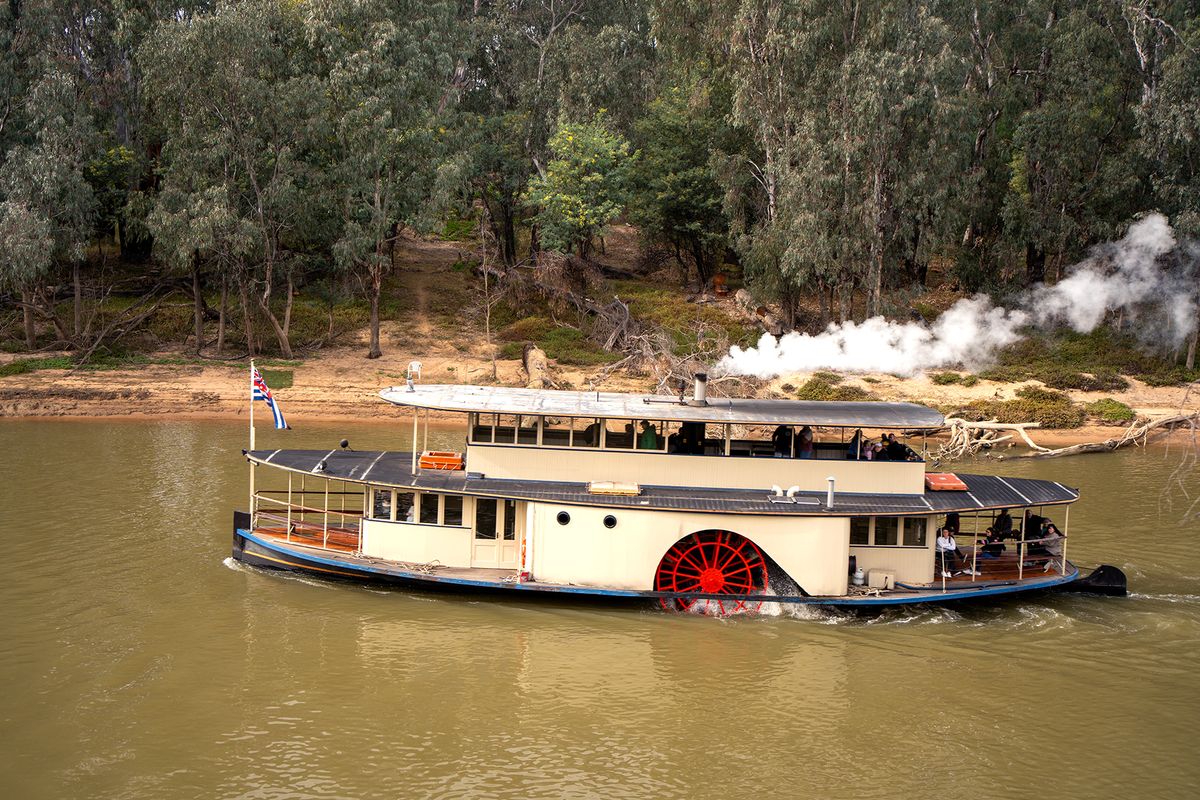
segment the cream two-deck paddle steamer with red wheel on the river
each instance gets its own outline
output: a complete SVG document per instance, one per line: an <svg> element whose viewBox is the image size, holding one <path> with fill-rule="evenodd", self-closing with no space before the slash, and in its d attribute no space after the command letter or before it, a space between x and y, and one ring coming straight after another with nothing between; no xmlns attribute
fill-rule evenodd
<svg viewBox="0 0 1200 800"><path fill-rule="evenodd" d="M764 603L952 602L1090 585L1066 537L1079 492L1054 481L926 473L911 403L679 397L467 385L394 386L407 452L250 450L233 555L319 576L499 595L581 595L707 613ZM421 447L430 413L461 452ZM806 435L797 435L803 431ZM898 433L906 459L859 443ZM918 441L919 438L919 441ZM893 452L895 456L895 451ZM982 536L1007 510L1002 547ZM948 569L936 539L958 530ZM1007 527L1007 523L1006 523ZM1109 583L1116 573L1120 578Z"/></svg>

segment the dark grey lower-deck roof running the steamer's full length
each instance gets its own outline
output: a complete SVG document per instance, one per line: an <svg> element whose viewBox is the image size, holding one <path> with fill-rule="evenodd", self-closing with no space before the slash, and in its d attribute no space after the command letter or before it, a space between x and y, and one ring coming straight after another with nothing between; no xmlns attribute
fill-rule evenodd
<svg viewBox="0 0 1200 800"><path fill-rule="evenodd" d="M586 483L565 481L524 481L491 479L478 474L425 470L412 474L412 453L359 452L350 450L256 450L253 461L282 469L334 480L410 487L426 492L455 492L524 500L542 500L569 505L611 506L614 509L661 509L722 513L781 515L923 515L948 511L970 512L980 509L1020 509L1025 506L1073 503L1079 492L1054 481L964 475L966 492L925 492L924 494L852 494L839 493L834 507L826 509L824 492L800 492L794 503L772 498L770 491L721 489L676 486L643 486L636 497L590 494Z"/></svg>

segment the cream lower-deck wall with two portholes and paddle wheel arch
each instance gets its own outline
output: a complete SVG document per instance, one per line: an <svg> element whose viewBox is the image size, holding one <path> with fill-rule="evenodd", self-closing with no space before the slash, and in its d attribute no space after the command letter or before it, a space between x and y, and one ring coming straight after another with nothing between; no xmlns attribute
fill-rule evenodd
<svg viewBox="0 0 1200 800"><path fill-rule="evenodd" d="M566 525L556 517L565 511ZM847 584L850 519L708 515L530 504L533 573L536 581L649 590L659 561L684 536L731 530L755 542L805 591L842 595ZM605 528L607 515L616 528Z"/></svg>

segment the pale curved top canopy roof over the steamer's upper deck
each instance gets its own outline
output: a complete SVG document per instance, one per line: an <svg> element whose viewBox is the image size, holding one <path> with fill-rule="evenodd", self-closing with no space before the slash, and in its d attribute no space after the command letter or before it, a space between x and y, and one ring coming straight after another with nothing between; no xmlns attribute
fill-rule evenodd
<svg viewBox="0 0 1200 800"><path fill-rule="evenodd" d="M943 417L938 411L916 403L710 397L707 405L688 405L666 395L569 392L448 384L416 385L414 391L409 391L406 386L391 386L379 392L379 396L397 405L487 414L844 428L940 428L943 425Z"/></svg>

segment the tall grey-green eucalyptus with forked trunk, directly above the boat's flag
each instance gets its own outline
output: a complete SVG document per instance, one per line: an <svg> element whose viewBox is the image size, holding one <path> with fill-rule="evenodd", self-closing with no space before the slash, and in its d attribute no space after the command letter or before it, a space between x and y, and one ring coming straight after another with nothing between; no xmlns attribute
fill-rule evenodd
<svg viewBox="0 0 1200 800"><path fill-rule="evenodd" d="M288 245L308 222L305 193L318 184L306 162L318 82L308 72L301 12L277 0L223 2L164 22L140 49L146 94L167 138L164 190L179 181L179 191L220 198L220 213L228 209L233 234L218 240L220 257L238 283L247 345L253 353L253 300L284 357L292 357L295 267ZM187 225L160 228L172 229ZM282 319L272 305L281 278Z"/></svg>

